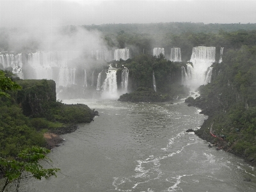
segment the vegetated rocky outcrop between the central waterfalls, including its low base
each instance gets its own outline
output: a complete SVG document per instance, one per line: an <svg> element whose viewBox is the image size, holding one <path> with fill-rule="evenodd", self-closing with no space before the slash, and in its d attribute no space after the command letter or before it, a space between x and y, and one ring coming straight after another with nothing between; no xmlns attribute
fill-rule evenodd
<svg viewBox="0 0 256 192"><path fill-rule="evenodd" d="M127 61L111 61L116 67L129 68L129 91L120 97L120 100L130 101L163 101L170 100L173 97L188 96L189 89L181 84L181 66L186 67L186 63L172 62L160 56L151 56L148 54L139 54L133 59ZM157 93L154 91L153 73L156 80ZM120 74L117 72L117 77ZM150 91L151 90L151 91ZM145 97L141 97L145 94ZM146 96L147 95L147 96ZM158 99L157 99L158 97Z"/></svg>

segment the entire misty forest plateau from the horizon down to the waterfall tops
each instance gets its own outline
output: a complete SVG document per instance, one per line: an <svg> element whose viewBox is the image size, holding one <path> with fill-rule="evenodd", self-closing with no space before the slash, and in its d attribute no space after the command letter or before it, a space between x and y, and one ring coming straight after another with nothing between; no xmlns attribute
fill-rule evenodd
<svg viewBox="0 0 256 192"><path fill-rule="evenodd" d="M101 32L102 41L108 49L129 47L131 56L152 54L154 47L164 47L166 58L172 47L180 47L182 61L188 61L192 47L198 45L239 49L241 45L255 45L256 24L204 24L191 22L168 22L151 24L102 24L91 26L65 26L60 35L71 36L79 29ZM4 51L36 52L40 50L40 39L31 36L20 50L10 44L12 35L18 36L19 29L0 28L0 49ZM253 39L253 40L252 40ZM252 42L250 42L252 40ZM99 47L102 49L102 47Z"/></svg>

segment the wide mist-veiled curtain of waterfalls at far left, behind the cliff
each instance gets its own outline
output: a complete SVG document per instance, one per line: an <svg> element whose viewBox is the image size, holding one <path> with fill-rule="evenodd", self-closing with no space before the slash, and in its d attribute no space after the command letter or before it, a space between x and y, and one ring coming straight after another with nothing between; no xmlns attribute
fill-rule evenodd
<svg viewBox="0 0 256 192"><path fill-rule="evenodd" d="M0 52L0 63L4 69L12 67L12 72L21 79L53 79L56 86L67 86L76 83L76 69L68 67L68 62L78 58L80 54L77 51L51 51L33 52L26 56L25 53ZM24 67L33 69L26 72L25 77L22 73Z"/></svg>

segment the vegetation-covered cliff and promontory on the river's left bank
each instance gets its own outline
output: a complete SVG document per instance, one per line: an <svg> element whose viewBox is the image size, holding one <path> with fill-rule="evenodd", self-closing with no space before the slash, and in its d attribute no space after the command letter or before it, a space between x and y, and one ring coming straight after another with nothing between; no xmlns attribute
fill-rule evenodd
<svg viewBox="0 0 256 192"><path fill-rule="evenodd" d="M10 78L8 71L1 73ZM5 78L2 78L5 79ZM52 80L15 80L21 90L0 91L0 157L15 157L24 148L45 146L43 133L54 129L65 130L69 124L91 122L92 109L83 104L67 105L56 101Z"/></svg>

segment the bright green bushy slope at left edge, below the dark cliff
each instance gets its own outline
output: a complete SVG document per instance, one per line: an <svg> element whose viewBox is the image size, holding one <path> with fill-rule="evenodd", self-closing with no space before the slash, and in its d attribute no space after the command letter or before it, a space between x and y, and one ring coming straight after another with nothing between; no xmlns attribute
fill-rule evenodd
<svg viewBox="0 0 256 192"><path fill-rule="evenodd" d="M16 156L20 150L31 145L45 144L42 133L29 125L28 117L18 106L0 108L0 156Z"/></svg>

